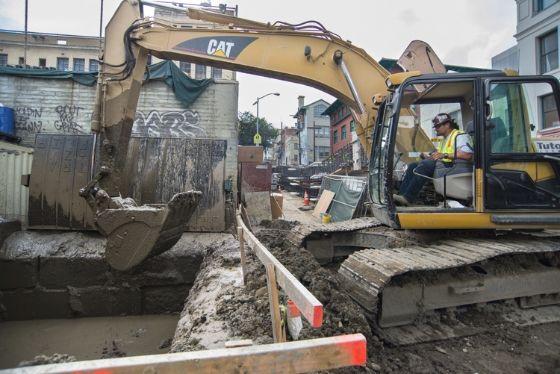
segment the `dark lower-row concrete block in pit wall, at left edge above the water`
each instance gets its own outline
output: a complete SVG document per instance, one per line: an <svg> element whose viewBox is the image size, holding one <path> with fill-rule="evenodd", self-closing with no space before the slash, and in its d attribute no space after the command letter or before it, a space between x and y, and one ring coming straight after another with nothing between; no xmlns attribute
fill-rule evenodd
<svg viewBox="0 0 560 374"><path fill-rule="evenodd" d="M0 314L4 320L68 318L71 316L68 291L35 288L2 292Z"/></svg>

